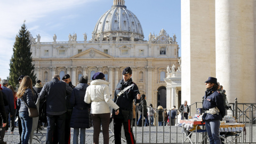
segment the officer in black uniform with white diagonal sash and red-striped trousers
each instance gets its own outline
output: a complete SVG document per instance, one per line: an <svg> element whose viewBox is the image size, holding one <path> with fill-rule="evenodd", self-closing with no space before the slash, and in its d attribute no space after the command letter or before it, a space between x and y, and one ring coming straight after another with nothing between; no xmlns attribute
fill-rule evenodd
<svg viewBox="0 0 256 144"><path fill-rule="evenodd" d="M115 115L113 110L112 116L114 116L114 135L115 143L121 143L121 127L123 124L124 134L127 143L135 143L134 135L132 132L132 103L133 99L135 103L140 102L140 92L138 86L132 82L132 70L130 67L126 67L123 70L123 79L117 84L115 90L114 102L119 106L119 114ZM132 86L131 86L132 85ZM126 87L129 89L125 90ZM125 91L124 91L125 90Z"/></svg>

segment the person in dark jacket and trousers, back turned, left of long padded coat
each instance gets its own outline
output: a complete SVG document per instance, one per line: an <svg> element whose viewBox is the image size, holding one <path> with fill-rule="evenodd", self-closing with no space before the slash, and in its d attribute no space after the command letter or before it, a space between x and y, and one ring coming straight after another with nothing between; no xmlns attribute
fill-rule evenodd
<svg viewBox="0 0 256 144"><path fill-rule="evenodd" d="M58 142L65 143L65 119L66 119L66 93L71 94L71 87L60 81L59 75L54 75L52 81L44 84L39 99L46 98L47 133L46 144L53 143L53 131L58 129Z"/></svg>

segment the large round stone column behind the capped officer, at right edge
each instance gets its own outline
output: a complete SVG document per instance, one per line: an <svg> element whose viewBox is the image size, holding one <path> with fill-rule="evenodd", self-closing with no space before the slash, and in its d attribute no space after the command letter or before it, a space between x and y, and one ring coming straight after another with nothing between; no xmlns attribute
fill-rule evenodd
<svg viewBox="0 0 256 144"><path fill-rule="evenodd" d="M256 102L254 3L215 0L216 77L229 102Z"/></svg>

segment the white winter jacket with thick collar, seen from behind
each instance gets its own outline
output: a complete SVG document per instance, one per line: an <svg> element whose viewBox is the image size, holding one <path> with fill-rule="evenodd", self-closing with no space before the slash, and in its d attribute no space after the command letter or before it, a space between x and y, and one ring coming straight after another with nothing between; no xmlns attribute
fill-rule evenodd
<svg viewBox="0 0 256 144"><path fill-rule="evenodd" d="M108 84L107 81L96 79L87 87L84 102L92 103L91 114L110 113L109 106L115 110L119 108L110 97Z"/></svg>

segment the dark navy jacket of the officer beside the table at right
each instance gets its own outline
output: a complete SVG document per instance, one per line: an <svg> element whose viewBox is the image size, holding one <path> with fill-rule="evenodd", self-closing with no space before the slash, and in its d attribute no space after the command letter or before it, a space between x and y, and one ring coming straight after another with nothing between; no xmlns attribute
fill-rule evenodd
<svg viewBox="0 0 256 144"><path fill-rule="evenodd" d="M209 110L210 108L217 107L220 112L219 114L209 114L205 113L203 115L203 121L208 120L221 120L225 116L225 107L223 105L223 96L219 91L215 91L214 89L210 89L205 91L203 109Z"/></svg>

